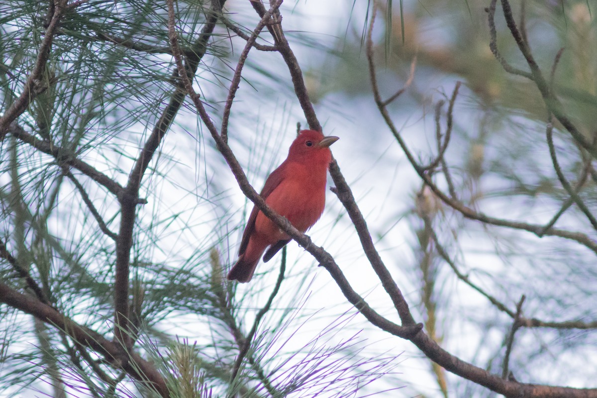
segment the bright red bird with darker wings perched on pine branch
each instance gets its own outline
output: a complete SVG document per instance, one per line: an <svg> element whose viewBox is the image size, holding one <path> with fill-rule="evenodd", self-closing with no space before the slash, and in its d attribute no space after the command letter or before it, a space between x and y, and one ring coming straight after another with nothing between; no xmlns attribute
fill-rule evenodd
<svg viewBox="0 0 597 398"><path fill-rule="evenodd" d="M337 140L338 137L324 137L319 131L299 132L288 157L267 177L261 190L267 205L288 218L300 232L306 232L324 212L325 181L332 160L330 145ZM290 236L254 206L242 234L238 261L228 279L249 282L267 247L263 256L266 263L288 242Z"/></svg>

